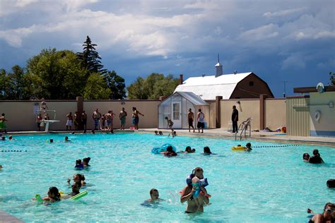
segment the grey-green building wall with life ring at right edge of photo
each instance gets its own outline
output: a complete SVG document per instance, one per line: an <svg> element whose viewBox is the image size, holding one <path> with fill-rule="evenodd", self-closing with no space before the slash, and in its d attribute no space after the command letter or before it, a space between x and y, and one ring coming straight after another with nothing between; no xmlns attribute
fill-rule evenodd
<svg viewBox="0 0 335 223"><path fill-rule="evenodd" d="M310 92L310 135L335 137L335 92ZM330 104L331 105L331 104ZM315 112L320 111L319 121L315 119Z"/></svg>

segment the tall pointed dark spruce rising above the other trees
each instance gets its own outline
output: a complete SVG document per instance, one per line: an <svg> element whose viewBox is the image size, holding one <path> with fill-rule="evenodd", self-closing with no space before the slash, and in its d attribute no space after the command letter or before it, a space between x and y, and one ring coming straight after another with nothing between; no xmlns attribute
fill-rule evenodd
<svg viewBox="0 0 335 223"><path fill-rule="evenodd" d="M98 52L95 51L96 46L97 44L93 44L90 37L87 36L86 41L83 43L83 52L77 53L78 59L81 61L81 66L88 71L86 78L88 78L91 73L107 73L107 70L103 69L101 64L101 57Z"/></svg>

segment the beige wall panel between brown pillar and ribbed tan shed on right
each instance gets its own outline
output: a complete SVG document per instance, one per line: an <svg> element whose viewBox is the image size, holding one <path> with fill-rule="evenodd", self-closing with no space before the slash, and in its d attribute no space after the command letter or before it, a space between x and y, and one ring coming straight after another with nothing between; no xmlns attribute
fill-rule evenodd
<svg viewBox="0 0 335 223"><path fill-rule="evenodd" d="M287 126L286 124L286 99L265 100L265 126L276 130Z"/></svg>

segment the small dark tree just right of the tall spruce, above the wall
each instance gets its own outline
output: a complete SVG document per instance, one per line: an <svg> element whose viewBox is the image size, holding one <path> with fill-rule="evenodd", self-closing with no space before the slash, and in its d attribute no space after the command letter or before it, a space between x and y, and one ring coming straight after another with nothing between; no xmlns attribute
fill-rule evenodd
<svg viewBox="0 0 335 223"><path fill-rule="evenodd" d="M111 94L110 99L124 99L126 97L126 85L124 84L124 78L118 76L115 71L108 71L105 74L107 87L110 88Z"/></svg>

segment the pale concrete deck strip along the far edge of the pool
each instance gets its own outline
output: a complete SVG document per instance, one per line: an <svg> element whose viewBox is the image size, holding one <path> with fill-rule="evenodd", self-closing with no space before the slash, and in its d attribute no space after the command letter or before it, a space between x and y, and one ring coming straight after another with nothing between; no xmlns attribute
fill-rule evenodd
<svg viewBox="0 0 335 223"><path fill-rule="evenodd" d="M164 135L168 135L171 131L168 129L158 129L158 128L140 128L139 131L133 130L117 130L114 129L114 132L138 132L138 133L154 133L154 131L163 131ZM198 133L196 131L189 133L188 129L175 129L177 135L185 135L190 137L207 137L207 138L228 138L235 140L235 134L226 131L223 128L211 128L205 129L204 133ZM50 133L68 133L71 135L71 132L82 133L82 131L50 131ZM96 131L97 133L101 131ZM45 133L43 131L20 131L20 132L8 132L6 135L16 135L16 134L35 134L35 133ZM91 134L90 131L87 134ZM242 135L244 136L244 134ZM240 134L237 134L237 140L240 141ZM280 132L251 132L251 137L247 133L247 138L242 137L242 140L259 140L259 141L271 141L277 143L300 143L300 144L312 144L312 145L327 145L330 147L335 147L335 137L312 137L312 136L294 136L286 135Z"/></svg>

